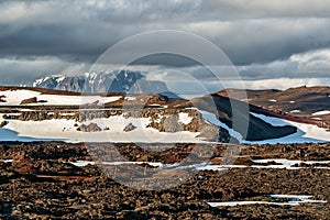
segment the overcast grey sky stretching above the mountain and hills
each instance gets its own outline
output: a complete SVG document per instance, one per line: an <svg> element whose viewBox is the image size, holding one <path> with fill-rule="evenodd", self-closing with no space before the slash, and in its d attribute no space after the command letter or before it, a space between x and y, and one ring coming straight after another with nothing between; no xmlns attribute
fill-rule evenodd
<svg viewBox="0 0 330 220"><path fill-rule="evenodd" d="M156 30L212 42L248 87L330 84L330 0L2 0L1 84L84 73L111 45ZM195 63L156 56L136 65L183 70Z"/></svg>

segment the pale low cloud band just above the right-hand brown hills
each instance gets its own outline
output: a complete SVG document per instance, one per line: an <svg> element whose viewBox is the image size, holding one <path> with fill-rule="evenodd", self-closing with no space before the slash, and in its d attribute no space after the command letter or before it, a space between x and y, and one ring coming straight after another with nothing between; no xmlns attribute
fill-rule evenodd
<svg viewBox="0 0 330 220"><path fill-rule="evenodd" d="M330 79L330 48L295 54L287 59L275 61L266 64L251 64L245 66L212 66L210 69L202 66L161 69L154 74L158 80L178 81L183 80L184 74L188 74L194 80L264 80L264 79ZM176 74L184 73L184 74ZM170 74L168 74L170 73ZM239 74L239 77L238 77ZM189 80L189 79L186 79Z"/></svg>

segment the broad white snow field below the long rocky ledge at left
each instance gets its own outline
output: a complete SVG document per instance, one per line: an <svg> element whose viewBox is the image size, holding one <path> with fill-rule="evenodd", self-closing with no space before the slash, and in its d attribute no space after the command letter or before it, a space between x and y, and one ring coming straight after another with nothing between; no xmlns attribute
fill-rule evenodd
<svg viewBox="0 0 330 220"><path fill-rule="evenodd" d="M2 114L0 114L2 119ZM96 123L102 129L100 132L77 131L75 120L44 120L44 121L20 121L8 120L8 124L0 128L1 141L31 141L31 140L63 140L66 142L142 142L142 143L188 143L202 142L196 138L199 132L188 131L167 133L160 132L153 128L146 128L150 123L148 118L129 118L123 116L110 117L107 119L94 119L84 122ZM123 129L132 123L136 129L124 132ZM110 130L105 130L110 128Z"/></svg>

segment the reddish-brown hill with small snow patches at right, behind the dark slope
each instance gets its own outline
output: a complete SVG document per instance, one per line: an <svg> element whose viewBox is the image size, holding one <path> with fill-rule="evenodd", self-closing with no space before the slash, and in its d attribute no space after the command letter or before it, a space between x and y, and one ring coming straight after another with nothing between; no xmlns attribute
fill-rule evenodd
<svg viewBox="0 0 330 220"><path fill-rule="evenodd" d="M241 90L237 89L222 90L217 95L228 97L228 94L250 103L253 112L330 129L330 87L246 90L248 99L240 97Z"/></svg>

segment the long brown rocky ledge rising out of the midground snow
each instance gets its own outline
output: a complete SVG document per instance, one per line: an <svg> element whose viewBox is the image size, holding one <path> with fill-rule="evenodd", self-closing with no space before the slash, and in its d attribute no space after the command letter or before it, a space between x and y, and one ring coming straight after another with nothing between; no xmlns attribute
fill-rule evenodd
<svg viewBox="0 0 330 220"><path fill-rule="evenodd" d="M186 113L191 121L189 123L183 123L179 120L179 114ZM107 109L107 110L31 110L21 111L20 113L7 113L3 119L7 120L21 120L21 121L43 121L53 119L66 119L75 120L77 123L77 130L82 132L98 132L102 129L95 123L89 125L78 123L84 123L94 119L109 119L111 117L124 117L124 118L147 118L150 123L147 128L153 128L160 132L180 132L189 131L197 133L199 132L199 138L208 141L229 142L230 135L227 130L221 129L217 125L206 123L201 114L196 109L186 108L144 108L144 109ZM128 124L123 131L129 132L134 130L133 124ZM107 130L111 130L108 128Z"/></svg>

